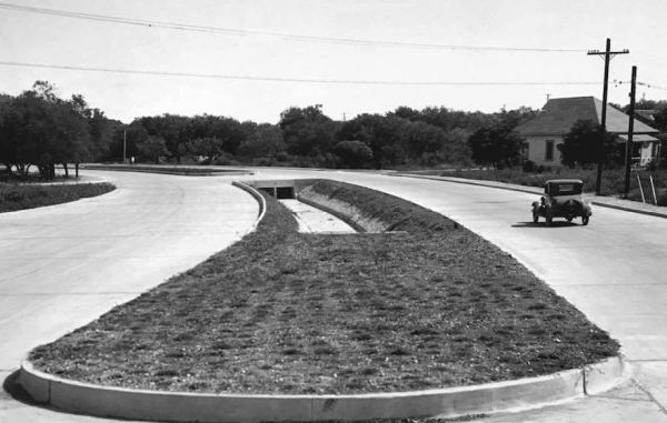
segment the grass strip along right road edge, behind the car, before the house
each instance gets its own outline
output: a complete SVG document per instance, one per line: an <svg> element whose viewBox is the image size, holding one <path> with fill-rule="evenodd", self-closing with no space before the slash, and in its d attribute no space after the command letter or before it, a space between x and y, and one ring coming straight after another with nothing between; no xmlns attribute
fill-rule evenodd
<svg viewBox="0 0 667 423"><path fill-rule="evenodd" d="M409 173L409 172L407 172ZM646 202L654 203L654 197L649 182L649 177L653 177L656 189L656 197L658 205L667 205L667 170L646 171L640 170L638 172L633 171L630 173L630 191L628 199L634 201L641 201L641 193L639 191L639 183L637 182L637 173L641 180L641 187L644 189L644 195ZM541 173L524 172L520 168L510 168L502 170L449 170L449 171L430 171L419 172L419 174L435 174L440 177L454 177L454 178L466 178L466 179L479 179L487 181L498 181L507 183L516 183L519 185L528 187L544 187L545 182L549 179L580 179L584 181L584 190L595 192L595 182L597 178L596 169L569 169L569 168L554 168L550 171L544 171ZM600 183L600 191L603 195L621 195L625 189L625 169L606 169L603 172L603 180Z"/></svg>

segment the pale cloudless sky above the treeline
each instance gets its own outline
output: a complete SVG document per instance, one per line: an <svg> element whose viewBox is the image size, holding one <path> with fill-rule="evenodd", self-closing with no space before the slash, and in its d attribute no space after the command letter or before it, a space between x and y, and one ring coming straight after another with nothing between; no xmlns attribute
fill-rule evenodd
<svg viewBox="0 0 667 423"><path fill-rule="evenodd" d="M627 104L633 66L638 99L667 99L666 17L665 0L0 0L0 93L47 80L126 123L539 109L601 99L587 51L610 38L629 53L610 62L608 100Z"/></svg>

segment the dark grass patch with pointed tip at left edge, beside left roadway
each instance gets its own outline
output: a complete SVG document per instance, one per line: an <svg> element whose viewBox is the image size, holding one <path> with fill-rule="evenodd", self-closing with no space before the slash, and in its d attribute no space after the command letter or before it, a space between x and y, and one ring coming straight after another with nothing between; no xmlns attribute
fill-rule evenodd
<svg viewBox="0 0 667 423"><path fill-rule="evenodd" d="M67 203L113 191L110 183L41 185L0 182L0 213Z"/></svg>

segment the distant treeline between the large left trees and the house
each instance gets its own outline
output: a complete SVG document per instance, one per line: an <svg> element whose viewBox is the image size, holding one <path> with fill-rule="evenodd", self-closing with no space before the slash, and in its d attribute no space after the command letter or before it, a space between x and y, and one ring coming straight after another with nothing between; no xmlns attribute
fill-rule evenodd
<svg viewBox="0 0 667 423"><path fill-rule="evenodd" d="M141 161L372 169L469 165L475 159L468 143L471 134L486 127L511 130L534 113L530 109L481 113L400 107L386 114L335 121L316 104L285 110L278 124L162 114L119 128L108 141L107 153L97 160L122 158L126 130L126 155Z"/></svg>

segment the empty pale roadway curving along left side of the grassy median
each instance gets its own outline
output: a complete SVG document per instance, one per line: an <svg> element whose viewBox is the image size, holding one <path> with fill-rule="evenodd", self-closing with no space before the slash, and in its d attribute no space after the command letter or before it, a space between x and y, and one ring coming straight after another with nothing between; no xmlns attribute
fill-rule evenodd
<svg viewBox="0 0 667 423"><path fill-rule="evenodd" d="M52 341L240 239L257 202L231 177L86 171L118 189L0 214L0 379ZM238 178L238 177L236 177ZM0 422L92 422L0 392Z"/></svg>

